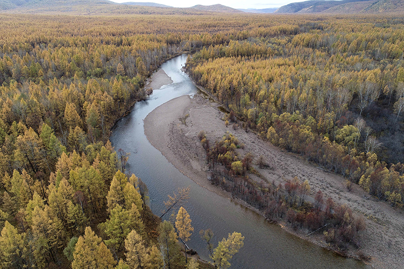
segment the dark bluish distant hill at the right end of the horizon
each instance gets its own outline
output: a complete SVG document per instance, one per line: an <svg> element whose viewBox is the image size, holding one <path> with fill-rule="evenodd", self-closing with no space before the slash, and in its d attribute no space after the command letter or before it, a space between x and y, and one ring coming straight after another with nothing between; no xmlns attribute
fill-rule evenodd
<svg viewBox="0 0 404 269"><path fill-rule="evenodd" d="M290 3L275 13L378 14L404 12L404 0L310 0Z"/></svg>

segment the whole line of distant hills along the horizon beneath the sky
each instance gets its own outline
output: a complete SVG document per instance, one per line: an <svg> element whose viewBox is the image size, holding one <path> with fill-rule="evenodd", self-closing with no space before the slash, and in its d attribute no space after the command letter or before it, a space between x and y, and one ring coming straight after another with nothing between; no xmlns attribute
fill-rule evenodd
<svg viewBox="0 0 404 269"><path fill-rule="evenodd" d="M279 9L233 9L220 4L174 8L152 2L115 3L109 0L0 0L0 11L7 13L103 15L103 14L209 14L298 13L298 14L380 14L404 13L404 0L309 0L290 3Z"/></svg>

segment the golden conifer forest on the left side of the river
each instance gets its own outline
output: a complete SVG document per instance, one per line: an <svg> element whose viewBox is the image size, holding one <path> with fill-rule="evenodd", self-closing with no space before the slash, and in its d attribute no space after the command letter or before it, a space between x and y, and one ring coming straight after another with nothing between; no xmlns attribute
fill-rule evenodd
<svg viewBox="0 0 404 269"><path fill-rule="evenodd" d="M146 97L151 71L184 51L228 42L242 25L0 16L0 267L211 266L181 252L193 228L186 209L170 200L178 194L166 204L174 221L161 222L145 184L125 170L128 154L108 138ZM244 239L233 233L214 246L209 229L201 236L220 268Z"/></svg>

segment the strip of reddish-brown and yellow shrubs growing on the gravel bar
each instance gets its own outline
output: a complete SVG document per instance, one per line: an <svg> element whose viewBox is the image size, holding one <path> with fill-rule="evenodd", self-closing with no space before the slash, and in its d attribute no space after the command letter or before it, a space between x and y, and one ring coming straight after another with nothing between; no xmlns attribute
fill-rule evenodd
<svg viewBox="0 0 404 269"><path fill-rule="evenodd" d="M309 201L309 181L300 182L297 177L287 179L284 184L251 179L251 174L259 175L253 166L254 155L247 152L241 156L236 152L244 144L229 132L212 146L204 131L199 133L198 138L207 153L212 184L257 208L272 222L284 220L294 230L307 229L311 233L324 228L324 240L333 249L346 251L351 247L361 247L365 220L346 204L336 204L321 190L315 193L313 202ZM264 155L258 157L257 165L273 169Z"/></svg>

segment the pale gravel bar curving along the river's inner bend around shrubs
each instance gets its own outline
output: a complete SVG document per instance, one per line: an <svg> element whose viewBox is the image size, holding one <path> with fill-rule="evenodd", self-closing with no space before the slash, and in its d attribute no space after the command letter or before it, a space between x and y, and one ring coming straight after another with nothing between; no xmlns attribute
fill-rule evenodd
<svg viewBox="0 0 404 269"><path fill-rule="evenodd" d="M375 268L401 268L403 262L404 240L401 213L386 203L365 199L366 193L354 186L351 192L346 191L344 179L322 171L300 159L295 154L283 152L263 141L252 132L241 128L226 127L221 120L223 113L219 105L199 94L194 98L181 96L155 109L144 120L144 132L151 144L183 174L197 184L225 197L230 195L210 184L207 179L205 150L200 146L197 134L204 130L210 141L220 139L226 131L233 133L242 143L243 155L250 151L255 156L265 155L274 170L256 169L268 182L283 182L297 176L300 180L309 180L312 195L321 190L325 196L332 197L338 204L347 204L357 214L363 214L367 222L367 230L363 232L361 252L344 253L348 256L372 256L371 265ZM187 116L188 115L188 116ZM322 247L327 244L319 236L306 237L307 233L295 232L287 224L281 226L297 236L312 241ZM362 254L363 253L363 254Z"/></svg>

